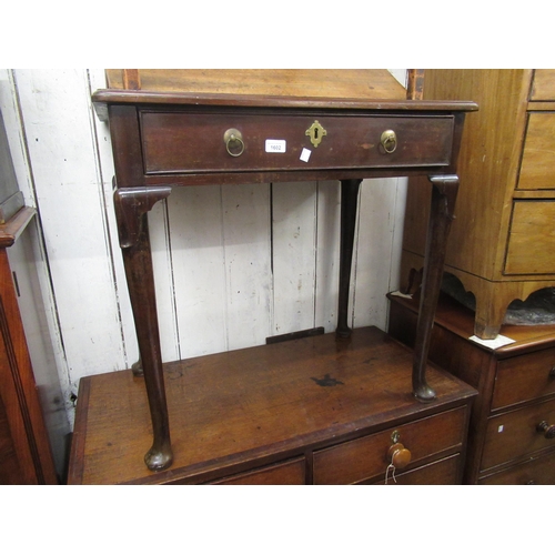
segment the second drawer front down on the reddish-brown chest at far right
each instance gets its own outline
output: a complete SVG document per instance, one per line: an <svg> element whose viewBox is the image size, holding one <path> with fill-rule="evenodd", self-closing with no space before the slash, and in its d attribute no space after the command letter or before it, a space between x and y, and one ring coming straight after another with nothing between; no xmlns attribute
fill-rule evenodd
<svg viewBox="0 0 555 555"><path fill-rule="evenodd" d="M537 431L542 422L549 426L555 424L555 401L537 403L490 418L482 470L555 446L555 438L546 438L543 432Z"/></svg>

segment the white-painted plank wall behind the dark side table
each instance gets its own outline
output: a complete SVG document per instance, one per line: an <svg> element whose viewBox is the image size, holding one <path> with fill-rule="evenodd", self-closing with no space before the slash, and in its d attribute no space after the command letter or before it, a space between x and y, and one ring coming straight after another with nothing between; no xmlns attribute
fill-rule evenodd
<svg viewBox="0 0 555 555"><path fill-rule="evenodd" d="M405 70L392 70L404 82ZM137 340L117 240L103 70L0 70L20 188L38 210L34 256L48 341L73 421L79 380L130 367ZM361 188L351 325L386 329L405 180ZM339 182L175 189L150 214L164 361L335 327ZM273 242L273 245L272 245ZM273 258L273 260L272 260Z"/></svg>

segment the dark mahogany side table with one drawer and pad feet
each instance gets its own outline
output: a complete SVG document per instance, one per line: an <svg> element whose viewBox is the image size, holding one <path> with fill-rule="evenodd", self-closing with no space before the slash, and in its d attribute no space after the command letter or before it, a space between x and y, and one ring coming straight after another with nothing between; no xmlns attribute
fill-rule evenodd
<svg viewBox="0 0 555 555"><path fill-rule="evenodd" d="M324 91L325 84L322 81ZM464 118L477 105L297 97L287 95L286 88L272 90L246 94L108 89L93 94L99 114L110 122L120 245L153 427L145 463L153 471L170 466L173 455L147 214L173 186L340 180L336 333L344 337L351 334L347 292L362 180L427 175L433 198L412 386L422 402L435 397L425 377L426 355L458 189Z"/></svg>

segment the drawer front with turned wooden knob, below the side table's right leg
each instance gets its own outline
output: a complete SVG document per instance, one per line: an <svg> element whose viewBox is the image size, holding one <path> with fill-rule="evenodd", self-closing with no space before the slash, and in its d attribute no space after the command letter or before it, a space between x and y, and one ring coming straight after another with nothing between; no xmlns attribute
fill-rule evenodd
<svg viewBox="0 0 555 555"><path fill-rule="evenodd" d="M353 440L314 453L315 484L354 484L377 476L385 477L392 432L411 451L411 470L435 453L461 446L465 430L465 408L447 411L411 424Z"/></svg>

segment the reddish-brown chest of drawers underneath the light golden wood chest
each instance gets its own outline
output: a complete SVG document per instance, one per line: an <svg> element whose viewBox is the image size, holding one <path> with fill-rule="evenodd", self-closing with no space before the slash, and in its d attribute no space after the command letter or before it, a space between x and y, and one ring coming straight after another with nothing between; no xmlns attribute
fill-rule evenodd
<svg viewBox="0 0 555 555"><path fill-rule="evenodd" d="M390 334L411 345L417 305L390 300ZM430 359L478 390L465 483L555 484L555 325L502 333L515 342L491 350L470 341L473 312L442 296Z"/></svg>

